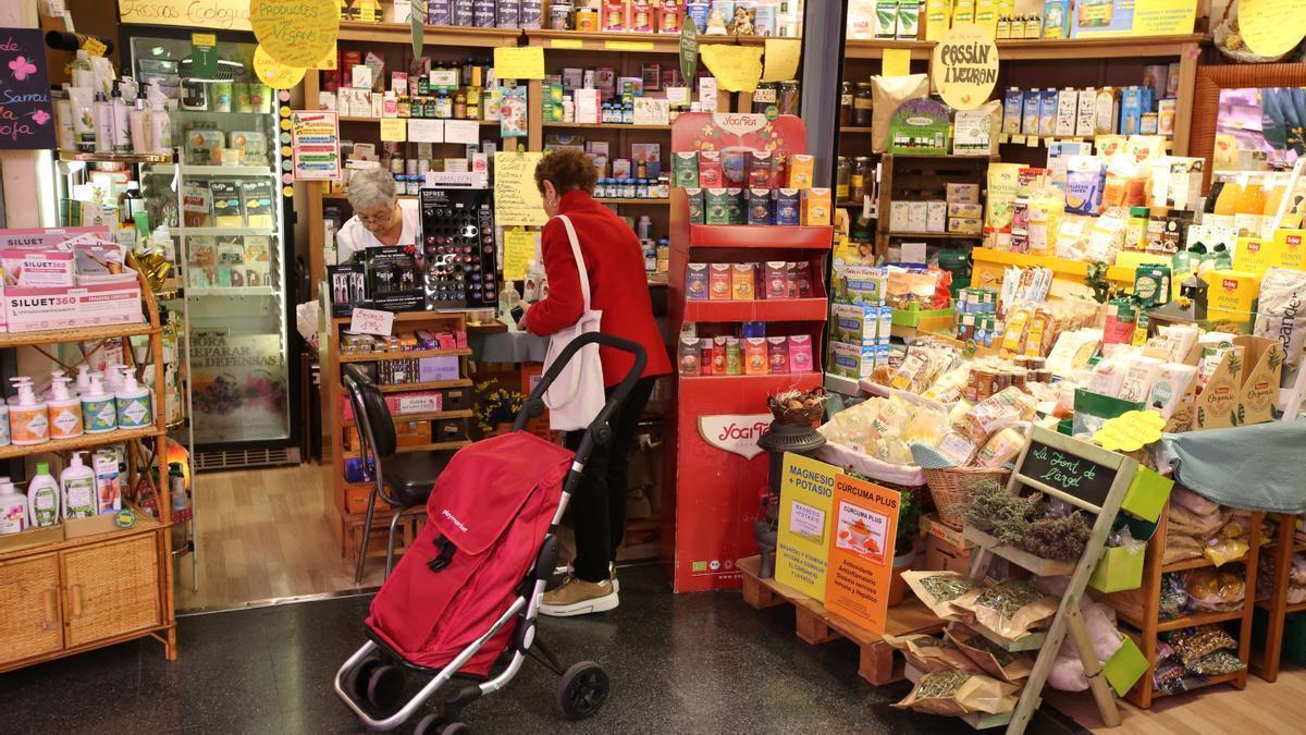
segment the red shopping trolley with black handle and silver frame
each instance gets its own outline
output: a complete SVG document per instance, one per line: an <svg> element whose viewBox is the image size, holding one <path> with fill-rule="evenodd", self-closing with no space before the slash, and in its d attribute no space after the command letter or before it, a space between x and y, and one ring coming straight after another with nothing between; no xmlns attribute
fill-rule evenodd
<svg viewBox="0 0 1306 735"><path fill-rule="evenodd" d="M585 430L576 454L524 430L543 394L581 349L629 352L635 365ZM558 523L609 420L644 371L632 341L586 333L563 349L530 392L513 430L469 445L431 490L427 523L381 585L364 621L368 641L336 672L336 694L370 730L393 730L435 698L418 734L465 732L461 709L503 688L526 655L560 676L558 705L569 719L607 701L609 677L593 662L563 668L535 629L558 561ZM406 672L430 677L406 702ZM439 693L439 697L436 694Z"/></svg>

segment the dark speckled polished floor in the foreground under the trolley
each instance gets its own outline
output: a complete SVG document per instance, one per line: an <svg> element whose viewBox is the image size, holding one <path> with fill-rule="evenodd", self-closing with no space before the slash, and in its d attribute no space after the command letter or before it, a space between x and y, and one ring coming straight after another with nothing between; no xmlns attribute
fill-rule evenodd
<svg viewBox="0 0 1306 735"><path fill-rule="evenodd" d="M906 684L858 679L845 642L799 642L789 608L756 611L735 592L673 595L657 566L620 577L616 611L542 624L564 663L607 667L613 698L598 717L560 721L556 679L528 662L466 722L479 732L973 732L889 708ZM368 599L183 617L174 663L141 641L0 675L0 732L359 732L330 681L362 643ZM1030 732L1071 732L1062 722L1040 715Z"/></svg>

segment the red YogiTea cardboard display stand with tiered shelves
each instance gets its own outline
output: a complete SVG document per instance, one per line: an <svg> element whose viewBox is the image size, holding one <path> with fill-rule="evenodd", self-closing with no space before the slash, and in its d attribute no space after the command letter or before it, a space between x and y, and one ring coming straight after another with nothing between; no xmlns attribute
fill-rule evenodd
<svg viewBox="0 0 1306 735"><path fill-rule="evenodd" d="M680 115L671 149L806 150L806 127L793 115ZM765 322L767 335L810 335L811 373L677 377L667 413L662 548L677 592L737 589L738 560L757 553L754 521L767 488L767 456L757 439L771 424L767 396L821 385L821 336L828 314L825 260L829 226L691 225L683 190L671 192L669 316L673 335L693 323L703 336L735 335L743 322ZM810 298L687 301L690 263L811 264ZM675 360L673 344L673 361Z"/></svg>

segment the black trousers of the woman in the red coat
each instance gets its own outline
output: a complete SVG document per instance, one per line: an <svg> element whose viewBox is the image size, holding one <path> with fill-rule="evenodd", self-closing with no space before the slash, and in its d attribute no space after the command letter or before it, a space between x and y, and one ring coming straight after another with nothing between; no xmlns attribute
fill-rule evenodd
<svg viewBox="0 0 1306 735"><path fill-rule="evenodd" d="M596 446L585 463L576 492L571 498L572 524L576 527L576 577L586 582L607 579L607 565L616 556L626 532L627 472L635 449L635 428L653 392L654 378L635 383L626 403L613 419L613 441ZM605 394L613 395L615 388ZM584 430L567 432L567 449L576 451Z"/></svg>

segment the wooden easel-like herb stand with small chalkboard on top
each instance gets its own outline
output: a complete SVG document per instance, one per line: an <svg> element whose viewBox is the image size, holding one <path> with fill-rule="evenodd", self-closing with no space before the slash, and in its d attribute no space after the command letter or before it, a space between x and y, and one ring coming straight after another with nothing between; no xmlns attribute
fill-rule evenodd
<svg viewBox="0 0 1306 735"><path fill-rule="evenodd" d="M1080 612L1080 600L1084 599L1084 590L1088 579L1093 574L1102 552L1106 548L1106 536L1115 523L1115 517L1121 511L1124 496L1130 490L1134 475L1138 471L1138 462L1111 453L1105 449L1072 439L1070 437L1036 426L1029 436L1029 441L1020 453L1016 462L1016 471L1012 472L1007 484L1007 492L1021 494L1023 490L1036 490L1045 493L1050 498L1058 498L1076 509L1097 517L1093 522L1093 532L1088 538L1088 545L1079 561L1070 562L1050 561L1025 553L1023 551L998 545L986 535L966 528L966 540L974 543L978 549L970 561L970 577L982 579L989 569L993 557L999 556L1011 564L1021 566L1038 575L1070 574L1070 583L1062 596L1057 616L1046 632L1036 632L1008 642L995 636L983 625L969 625L977 633L993 640L995 643L1007 646L1011 651L1038 650L1038 659L1030 672L1025 687L1020 693L1020 702L1015 711L1007 717L986 715L982 719L970 715L966 719L977 727L996 727L1007 723L1007 732L1019 735L1029 726L1030 718L1042 702L1043 684L1053 670L1057 653L1070 633L1075 638L1080 660L1084 663L1084 675L1088 677L1089 689L1097 701L1097 709L1102 714L1102 722L1107 727L1121 723L1121 714L1115 709L1115 696L1102 675L1102 662L1093 653L1092 640ZM952 625L963 625L953 623ZM1010 723L1007 722L1010 721Z"/></svg>

